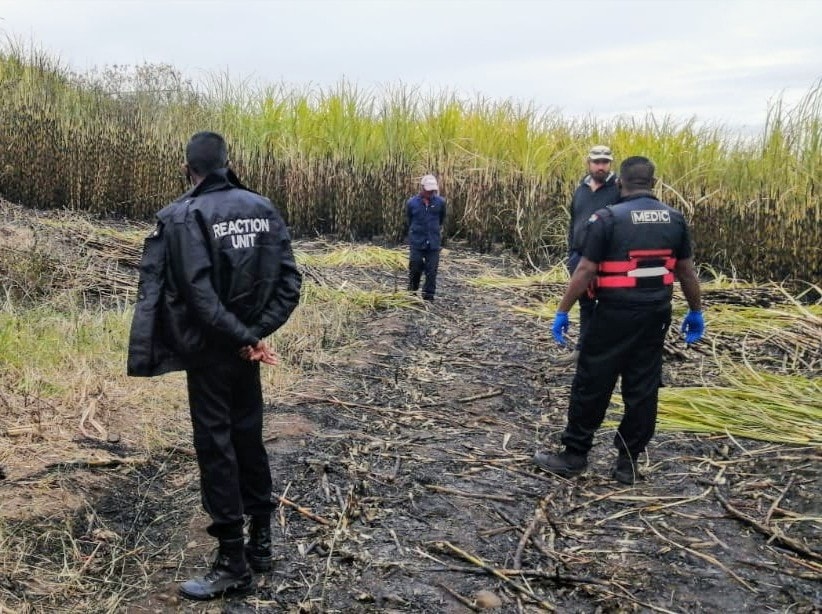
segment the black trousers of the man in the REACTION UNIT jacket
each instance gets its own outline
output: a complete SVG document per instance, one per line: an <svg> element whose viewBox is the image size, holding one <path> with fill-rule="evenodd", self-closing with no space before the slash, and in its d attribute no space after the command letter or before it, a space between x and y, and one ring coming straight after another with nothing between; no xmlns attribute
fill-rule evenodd
<svg viewBox="0 0 822 614"><path fill-rule="evenodd" d="M227 357L186 372L194 450L210 535L243 535L243 514L271 512L271 468L263 445L260 363Z"/></svg>

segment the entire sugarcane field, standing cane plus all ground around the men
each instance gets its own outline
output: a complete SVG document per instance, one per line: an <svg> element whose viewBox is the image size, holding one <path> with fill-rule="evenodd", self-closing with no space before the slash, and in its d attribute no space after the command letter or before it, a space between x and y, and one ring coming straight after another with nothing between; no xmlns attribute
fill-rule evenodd
<svg viewBox="0 0 822 614"><path fill-rule="evenodd" d="M203 93L8 46L0 91L0 614L822 609L822 83L754 137L346 82ZM186 374L126 373L144 242L199 130L302 275L261 365L273 567L203 602L177 589L215 551ZM674 285L633 485L609 473L620 384L581 475L532 460L568 418L579 308L568 347L551 321L594 143L656 165L705 314L686 344ZM408 291L428 173L435 300Z"/></svg>

